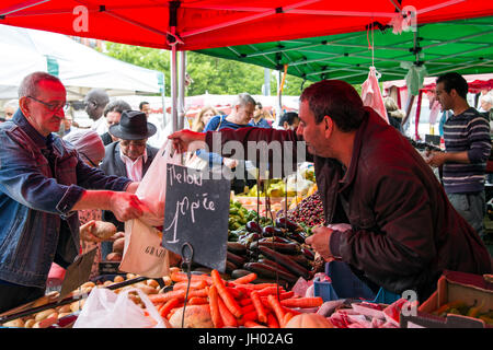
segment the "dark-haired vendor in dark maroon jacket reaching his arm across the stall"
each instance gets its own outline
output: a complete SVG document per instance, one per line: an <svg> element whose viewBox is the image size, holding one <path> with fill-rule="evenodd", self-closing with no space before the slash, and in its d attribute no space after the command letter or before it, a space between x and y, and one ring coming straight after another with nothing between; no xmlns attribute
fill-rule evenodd
<svg viewBox="0 0 493 350"><path fill-rule="evenodd" d="M344 232L314 228L306 243L325 259L347 262L374 291L380 287L399 294L414 290L422 302L436 290L444 270L491 272L486 247L450 205L432 168L398 130L364 107L353 86L337 80L308 86L300 96L299 119L296 132L182 130L169 138L181 150L193 141L211 148L220 132L221 145L239 141L245 158L257 151L249 141L266 141L265 150L275 142L298 145L305 141L307 160L314 163L325 222L351 224ZM297 147L279 149L270 164L297 162L302 153ZM223 156L234 158L226 150L221 149Z"/></svg>

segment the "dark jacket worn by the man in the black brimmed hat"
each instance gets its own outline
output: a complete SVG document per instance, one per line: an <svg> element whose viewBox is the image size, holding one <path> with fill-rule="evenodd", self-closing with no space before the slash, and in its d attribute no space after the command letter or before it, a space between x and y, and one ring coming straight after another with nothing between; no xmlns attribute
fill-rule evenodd
<svg viewBox="0 0 493 350"><path fill-rule="evenodd" d="M104 155L100 168L106 175L117 175L128 177L125 164L119 158L119 141L112 142L108 145L106 145L105 151L106 153ZM146 174L158 151L159 150L157 148L153 148L149 144L147 145L147 162L142 164L142 176ZM115 215L111 211L103 210L103 221L113 222L117 231L125 231L125 224L116 220Z"/></svg>

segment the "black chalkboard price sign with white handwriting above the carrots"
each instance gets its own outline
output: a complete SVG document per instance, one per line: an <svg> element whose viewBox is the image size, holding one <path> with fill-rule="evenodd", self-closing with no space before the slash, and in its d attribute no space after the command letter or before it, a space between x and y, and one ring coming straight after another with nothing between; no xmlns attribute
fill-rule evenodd
<svg viewBox="0 0 493 350"><path fill-rule="evenodd" d="M162 246L181 255L188 243L193 261L225 272L230 180L173 164L167 171Z"/></svg>

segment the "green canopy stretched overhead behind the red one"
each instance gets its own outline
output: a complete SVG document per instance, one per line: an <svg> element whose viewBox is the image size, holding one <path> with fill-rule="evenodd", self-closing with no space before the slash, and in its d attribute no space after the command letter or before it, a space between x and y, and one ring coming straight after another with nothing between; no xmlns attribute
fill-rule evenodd
<svg viewBox="0 0 493 350"><path fill-rule="evenodd" d="M377 22L364 32L196 52L276 70L284 70L288 65L288 74L308 81L340 79L352 84L363 83L370 66L381 74L380 81L405 79L410 66L423 65L427 75L448 71L490 73L493 72L493 18L423 24L415 32L401 34L393 34L392 27Z"/></svg>

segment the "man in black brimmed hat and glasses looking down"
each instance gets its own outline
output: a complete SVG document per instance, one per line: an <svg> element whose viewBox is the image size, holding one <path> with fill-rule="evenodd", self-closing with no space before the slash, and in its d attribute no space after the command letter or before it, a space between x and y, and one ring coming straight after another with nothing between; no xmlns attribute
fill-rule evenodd
<svg viewBox="0 0 493 350"><path fill-rule="evenodd" d="M147 144L148 138L156 131L156 126L147 121L144 112L124 110L119 124L112 125L108 130L119 141L105 147L100 168L106 175L125 176L140 182L159 151ZM116 220L111 211L103 211L103 221L113 222L117 231L125 231L125 224ZM104 259L112 253L113 243L103 242L101 248Z"/></svg>

